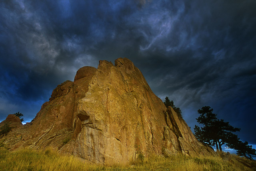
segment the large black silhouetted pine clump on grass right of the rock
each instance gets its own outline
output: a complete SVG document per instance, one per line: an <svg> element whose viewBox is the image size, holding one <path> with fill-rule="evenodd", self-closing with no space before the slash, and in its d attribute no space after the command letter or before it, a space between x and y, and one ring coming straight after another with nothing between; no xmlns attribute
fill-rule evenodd
<svg viewBox="0 0 256 171"><path fill-rule="evenodd" d="M233 132L240 131L240 128L234 128L229 122L218 120L217 115L212 113L210 106L204 106L198 110L200 116L196 119L203 127L195 125L195 136L200 142L208 145L216 145L217 151L222 151L221 146L226 144L228 147L235 149L240 156L256 157L256 150L248 142L242 142Z"/></svg>

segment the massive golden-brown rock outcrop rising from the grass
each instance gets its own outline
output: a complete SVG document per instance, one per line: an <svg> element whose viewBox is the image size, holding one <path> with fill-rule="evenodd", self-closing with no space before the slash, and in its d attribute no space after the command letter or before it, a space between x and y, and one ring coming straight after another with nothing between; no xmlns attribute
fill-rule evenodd
<svg viewBox="0 0 256 171"><path fill-rule="evenodd" d="M127 163L140 153L214 155L165 107L129 59L80 68L74 82L58 85L49 100L31 123L5 136L7 146L51 146L106 164Z"/></svg>

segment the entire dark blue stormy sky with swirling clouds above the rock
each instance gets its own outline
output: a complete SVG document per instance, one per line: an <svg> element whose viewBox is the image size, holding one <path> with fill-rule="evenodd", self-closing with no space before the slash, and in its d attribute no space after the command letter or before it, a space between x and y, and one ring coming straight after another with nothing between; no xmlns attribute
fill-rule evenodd
<svg viewBox="0 0 256 171"><path fill-rule="evenodd" d="M80 67L127 57L157 96L169 96L181 107L189 126L196 124L196 111L209 105L242 128L243 140L256 144L255 5L253 0L1 2L0 120L23 110L29 121L56 85L72 81Z"/></svg>

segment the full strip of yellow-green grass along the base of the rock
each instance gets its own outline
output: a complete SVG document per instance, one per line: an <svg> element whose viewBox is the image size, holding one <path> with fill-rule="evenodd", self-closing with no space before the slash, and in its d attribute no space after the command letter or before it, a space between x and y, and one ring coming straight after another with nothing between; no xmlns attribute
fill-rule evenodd
<svg viewBox="0 0 256 171"><path fill-rule="evenodd" d="M187 157L176 155L165 158L141 157L128 165L104 166L90 164L72 155L60 155L51 149L43 151L22 149L8 151L0 148L0 171L122 171L122 170L166 170L166 171L253 171L256 162L236 155L216 157Z"/></svg>

